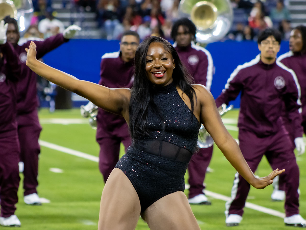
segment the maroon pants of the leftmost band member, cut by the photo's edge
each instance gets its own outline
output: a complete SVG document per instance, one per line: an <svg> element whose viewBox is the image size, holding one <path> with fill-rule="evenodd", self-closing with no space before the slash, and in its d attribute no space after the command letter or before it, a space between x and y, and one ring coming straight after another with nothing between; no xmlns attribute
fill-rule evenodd
<svg viewBox="0 0 306 230"><path fill-rule="evenodd" d="M1 217L15 213L19 187L19 142L17 133L0 137L0 206Z"/></svg>

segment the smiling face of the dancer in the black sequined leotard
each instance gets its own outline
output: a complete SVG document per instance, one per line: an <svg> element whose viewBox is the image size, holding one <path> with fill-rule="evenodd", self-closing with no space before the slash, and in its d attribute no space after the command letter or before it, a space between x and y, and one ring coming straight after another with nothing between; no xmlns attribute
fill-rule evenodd
<svg viewBox="0 0 306 230"><path fill-rule="evenodd" d="M174 68L174 59L164 45L158 42L151 43L146 57L146 71L150 82L158 86L169 85L173 81Z"/></svg>

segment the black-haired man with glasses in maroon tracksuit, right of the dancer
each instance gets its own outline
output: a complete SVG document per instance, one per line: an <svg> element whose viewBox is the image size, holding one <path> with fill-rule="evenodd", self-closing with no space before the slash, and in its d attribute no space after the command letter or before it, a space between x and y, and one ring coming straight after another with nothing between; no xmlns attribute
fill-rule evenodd
<svg viewBox="0 0 306 230"><path fill-rule="evenodd" d="M265 29L258 36L260 54L255 59L239 65L227 81L225 89L215 100L216 105L228 104L241 92L239 113L239 147L253 172L263 155L273 169L284 168L280 176L285 181L285 225L306 227L299 215L299 168L295 159L288 132L279 116L282 103L294 125L294 136L301 148L302 137L300 105L297 100L300 88L294 72L276 62L280 49L281 34L274 29ZM250 184L235 174L232 197L226 202L226 224L237 226L242 220L243 208Z"/></svg>

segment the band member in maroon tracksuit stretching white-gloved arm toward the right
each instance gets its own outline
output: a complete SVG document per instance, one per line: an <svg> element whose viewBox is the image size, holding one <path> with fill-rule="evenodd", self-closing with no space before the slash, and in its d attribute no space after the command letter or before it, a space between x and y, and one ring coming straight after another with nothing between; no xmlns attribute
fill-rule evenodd
<svg viewBox="0 0 306 230"><path fill-rule="evenodd" d="M38 159L40 146L38 143L39 134L42 130L38 120L38 98L36 88L36 74L25 64L27 54L25 48L31 41L22 45L18 44L20 34L17 21L7 16L4 21L8 23L6 32L7 40L13 44L21 62L21 75L24 76L17 83L17 123L18 138L20 142L20 160L24 163L24 202L28 205L41 205L37 194ZM43 57L46 53L57 48L70 38L73 38L76 31L81 28L71 25L63 33L51 36L44 41L36 41L39 51L37 58Z"/></svg>

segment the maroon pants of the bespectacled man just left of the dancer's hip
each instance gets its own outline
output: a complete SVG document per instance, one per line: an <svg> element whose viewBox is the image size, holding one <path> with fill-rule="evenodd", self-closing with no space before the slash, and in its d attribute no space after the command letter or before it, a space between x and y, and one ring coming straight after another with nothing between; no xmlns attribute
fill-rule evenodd
<svg viewBox="0 0 306 230"><path fill-rule="evenodd" d="M106 182L111 171L119 160L120 143L122 142L126 151L126 149L131 145L131 138L130 136L103 137L97 139L97 142L100 145L99 170L103 175L104 182Z"/></svg>

